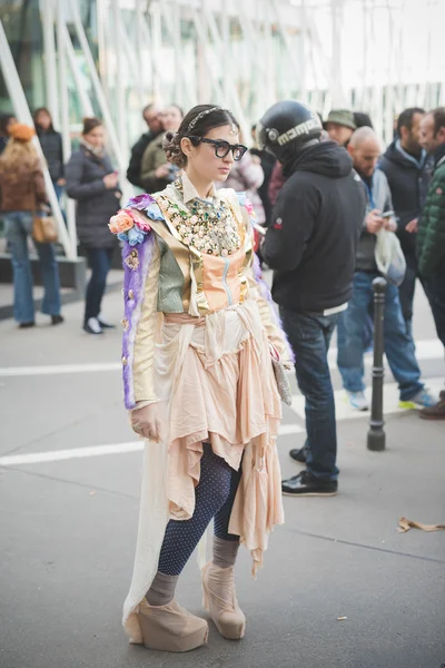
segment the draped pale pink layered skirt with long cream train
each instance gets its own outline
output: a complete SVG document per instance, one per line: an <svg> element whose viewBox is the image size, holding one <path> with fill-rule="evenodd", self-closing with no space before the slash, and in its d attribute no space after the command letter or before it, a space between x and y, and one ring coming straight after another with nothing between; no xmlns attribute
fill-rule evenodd
<svg viewBox="0 0 445 668"><path fill-rule="evenodd" d="M254 574L270 531L284 521L276 448L281 406L270 363L276 325L271 317L265 326L271 306L249 272L241 303L201 317L157 316L152 373L164 433L161 443L145 446L135 569L123 608L134 642L141 639L134 612L156 574L166 524L194 514L204 443L234 470L243 469L229 531L250 551Z"/></svg>

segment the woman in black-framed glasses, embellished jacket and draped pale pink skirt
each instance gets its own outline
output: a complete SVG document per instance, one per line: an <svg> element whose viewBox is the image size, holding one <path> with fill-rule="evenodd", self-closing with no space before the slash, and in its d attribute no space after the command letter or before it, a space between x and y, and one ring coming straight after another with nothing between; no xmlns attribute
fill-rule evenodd
<svg viewBox="0 0 445 668"><path fill-rule="evenodd" d="M191 109L165 139L180 178L135 197L110 220L125 242L126 407L146 439L123 623L130 642L152 649L207 641L207 621L176 602L175 588L211 520L205 606L225 638L241 638L239 544L255 574L269 532L283 523L278 386L283 394L280 364L291 354L255 264L251 206L214 185L247 150L238 130L228 110Z"/></svg>

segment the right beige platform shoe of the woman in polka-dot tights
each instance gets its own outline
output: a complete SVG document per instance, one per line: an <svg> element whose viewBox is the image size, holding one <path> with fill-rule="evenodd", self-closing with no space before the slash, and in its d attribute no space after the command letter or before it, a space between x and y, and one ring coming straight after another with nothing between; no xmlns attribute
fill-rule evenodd
<svg viewBox="0 0 445 668"><path fill-rule="evenodd" d="M234 567L219 568L209 561L202 569L204 607L216 628L228 640L239 640L246 630L246 617L235 593Z"/></svg>

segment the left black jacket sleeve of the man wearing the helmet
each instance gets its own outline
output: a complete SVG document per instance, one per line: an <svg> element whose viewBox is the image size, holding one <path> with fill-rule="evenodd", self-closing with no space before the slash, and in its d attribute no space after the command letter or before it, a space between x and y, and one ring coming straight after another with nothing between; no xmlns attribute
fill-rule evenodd
<svg viewBox="0 0 445 668"><path fill-rule="evenodd" d="M318 190L305 184L281 190L261 254L271 269L291 272L301 262L319 210Z"/></svg>

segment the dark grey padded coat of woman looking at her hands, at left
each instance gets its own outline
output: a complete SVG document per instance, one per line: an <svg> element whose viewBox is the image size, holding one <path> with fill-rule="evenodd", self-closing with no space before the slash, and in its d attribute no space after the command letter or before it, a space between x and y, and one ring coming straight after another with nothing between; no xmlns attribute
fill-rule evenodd
<svg viewBox="0 0 445 668"><path fill-rule="evenodd" d="M119 209L121 194L118 189L107 190L102 180L112 170L107 155L99 158L85 146L72 153L66 166L67 194L77 200L78 238L87 248L112 248L116 245L108 223Z"/></svg>

